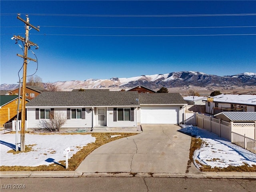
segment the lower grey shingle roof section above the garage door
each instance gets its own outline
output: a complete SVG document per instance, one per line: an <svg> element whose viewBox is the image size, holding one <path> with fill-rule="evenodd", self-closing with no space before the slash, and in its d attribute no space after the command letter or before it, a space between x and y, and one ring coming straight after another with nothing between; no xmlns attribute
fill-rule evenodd
<svg viewBox="0 0 256 192"><path fill-rule="evenodd" d="M139 94L140 104L186 104L179 93Z"/></svg>

